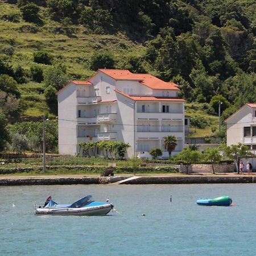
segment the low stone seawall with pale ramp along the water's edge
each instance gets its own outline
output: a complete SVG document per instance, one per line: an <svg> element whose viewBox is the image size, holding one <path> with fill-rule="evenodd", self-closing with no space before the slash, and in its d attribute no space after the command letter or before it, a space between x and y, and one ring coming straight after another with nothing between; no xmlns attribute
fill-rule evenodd
<svg viewBox="0 0 256 256"><path fill-rule="evenodd" d="M49 175L0 176L0 186L11 185L75 185L75 184L208 184L256 183L254 175L238 174L152 174L152 175Z"/></svg>

